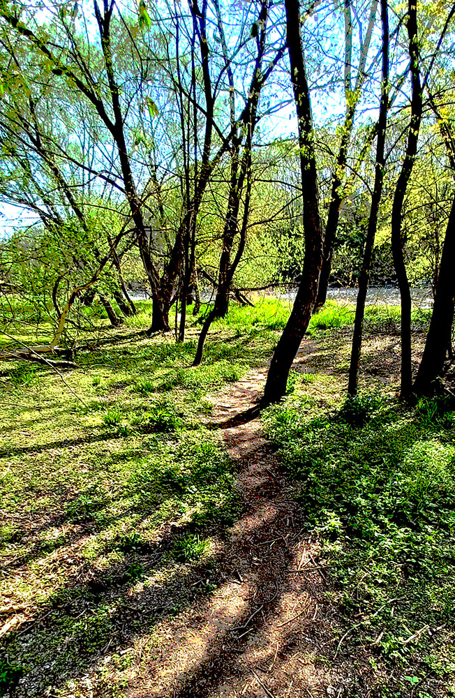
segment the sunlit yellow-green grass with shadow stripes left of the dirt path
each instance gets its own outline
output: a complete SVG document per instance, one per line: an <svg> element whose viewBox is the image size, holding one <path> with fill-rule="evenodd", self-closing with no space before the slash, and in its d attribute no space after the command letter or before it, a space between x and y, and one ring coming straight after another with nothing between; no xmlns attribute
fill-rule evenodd
<svg viewBox="0 0 455 698"><path fill-rule="evenodd" d="M263 326L248 310L218 323L197 368L197 328L177 344L138 334L137 318L82 337L80 369L65 383L40 366L4 364L0 607L26 610L3 637L0 695L83 691L75 677L110 641L147 638L172 609L214 591L211 537L241 509L234 463L204 418L211 391L269 355L265 308ZM203 589L188 581L201 565Z"/></svg>

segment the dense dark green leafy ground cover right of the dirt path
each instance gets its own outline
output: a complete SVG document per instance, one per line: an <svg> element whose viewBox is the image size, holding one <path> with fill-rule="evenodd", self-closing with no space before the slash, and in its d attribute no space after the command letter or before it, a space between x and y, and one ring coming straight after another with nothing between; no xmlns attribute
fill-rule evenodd
<svg viewBox="0 0 455 698"><path fill-rule="evenodd" d="M379 695L409 695L418 683L423 698L428 678L455 676L447 640L455 624L455 422L447 409L422 401L407 411L379 394L334 409L321 396L294 394L263 414L307 533L322 545L339 652L361 645L396 676Z"/></svg>

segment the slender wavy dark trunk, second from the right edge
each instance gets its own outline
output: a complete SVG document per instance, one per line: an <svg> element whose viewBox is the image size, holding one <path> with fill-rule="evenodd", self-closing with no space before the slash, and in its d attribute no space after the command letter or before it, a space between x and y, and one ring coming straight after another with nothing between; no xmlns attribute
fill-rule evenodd
<svg viewBox="0 0 455 698"><path fill-rule="evenodd" d="M401 231L403 202L417 156L417 142L422 121L422 86L420 83L420 54L417 36L417 3L408 0L408 37L411 61L411 120L408 144L400 176L396 183L391 209L391 251L401 297L401 397L408 398L412 391L411 366L411 293L405 266L404 242Z"/></svg>

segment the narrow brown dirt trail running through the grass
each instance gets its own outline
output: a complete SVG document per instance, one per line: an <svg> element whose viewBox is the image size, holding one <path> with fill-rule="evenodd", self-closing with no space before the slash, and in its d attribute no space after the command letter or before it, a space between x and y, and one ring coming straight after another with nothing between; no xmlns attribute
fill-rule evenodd
<svg viewBox="0 0 455 698"><path fill-rule="evenodd" d="M299 352L297 362L302 358ZM211 426L238 461L244 515L216 542L221 583L158 628L128 697L340 696L349 676L328 668L334 608L325 600L318 549L306 538L290 483L251 419L267 366L214 396ZM250 410L250 411L248 411ZM339 671L339 667L338 667Z"/></svg>

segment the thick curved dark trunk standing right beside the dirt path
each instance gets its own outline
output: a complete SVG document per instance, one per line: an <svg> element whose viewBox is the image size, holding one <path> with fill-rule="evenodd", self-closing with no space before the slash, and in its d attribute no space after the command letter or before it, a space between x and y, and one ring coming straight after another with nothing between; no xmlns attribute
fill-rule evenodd
<svg viewBox="0 0 455 698"><path fill-rule="evenodd" d="M301 40L299 1L285 0L285 10L292 89L294 91L299 126L301 184L304 202L305 258L301 282L292 313L271 359L264 389L263 400L265 403L277 402L285 394L290 367L308 327L308 322L311 320L311 313L318 292L323 253L313 120Z"/></svg>

